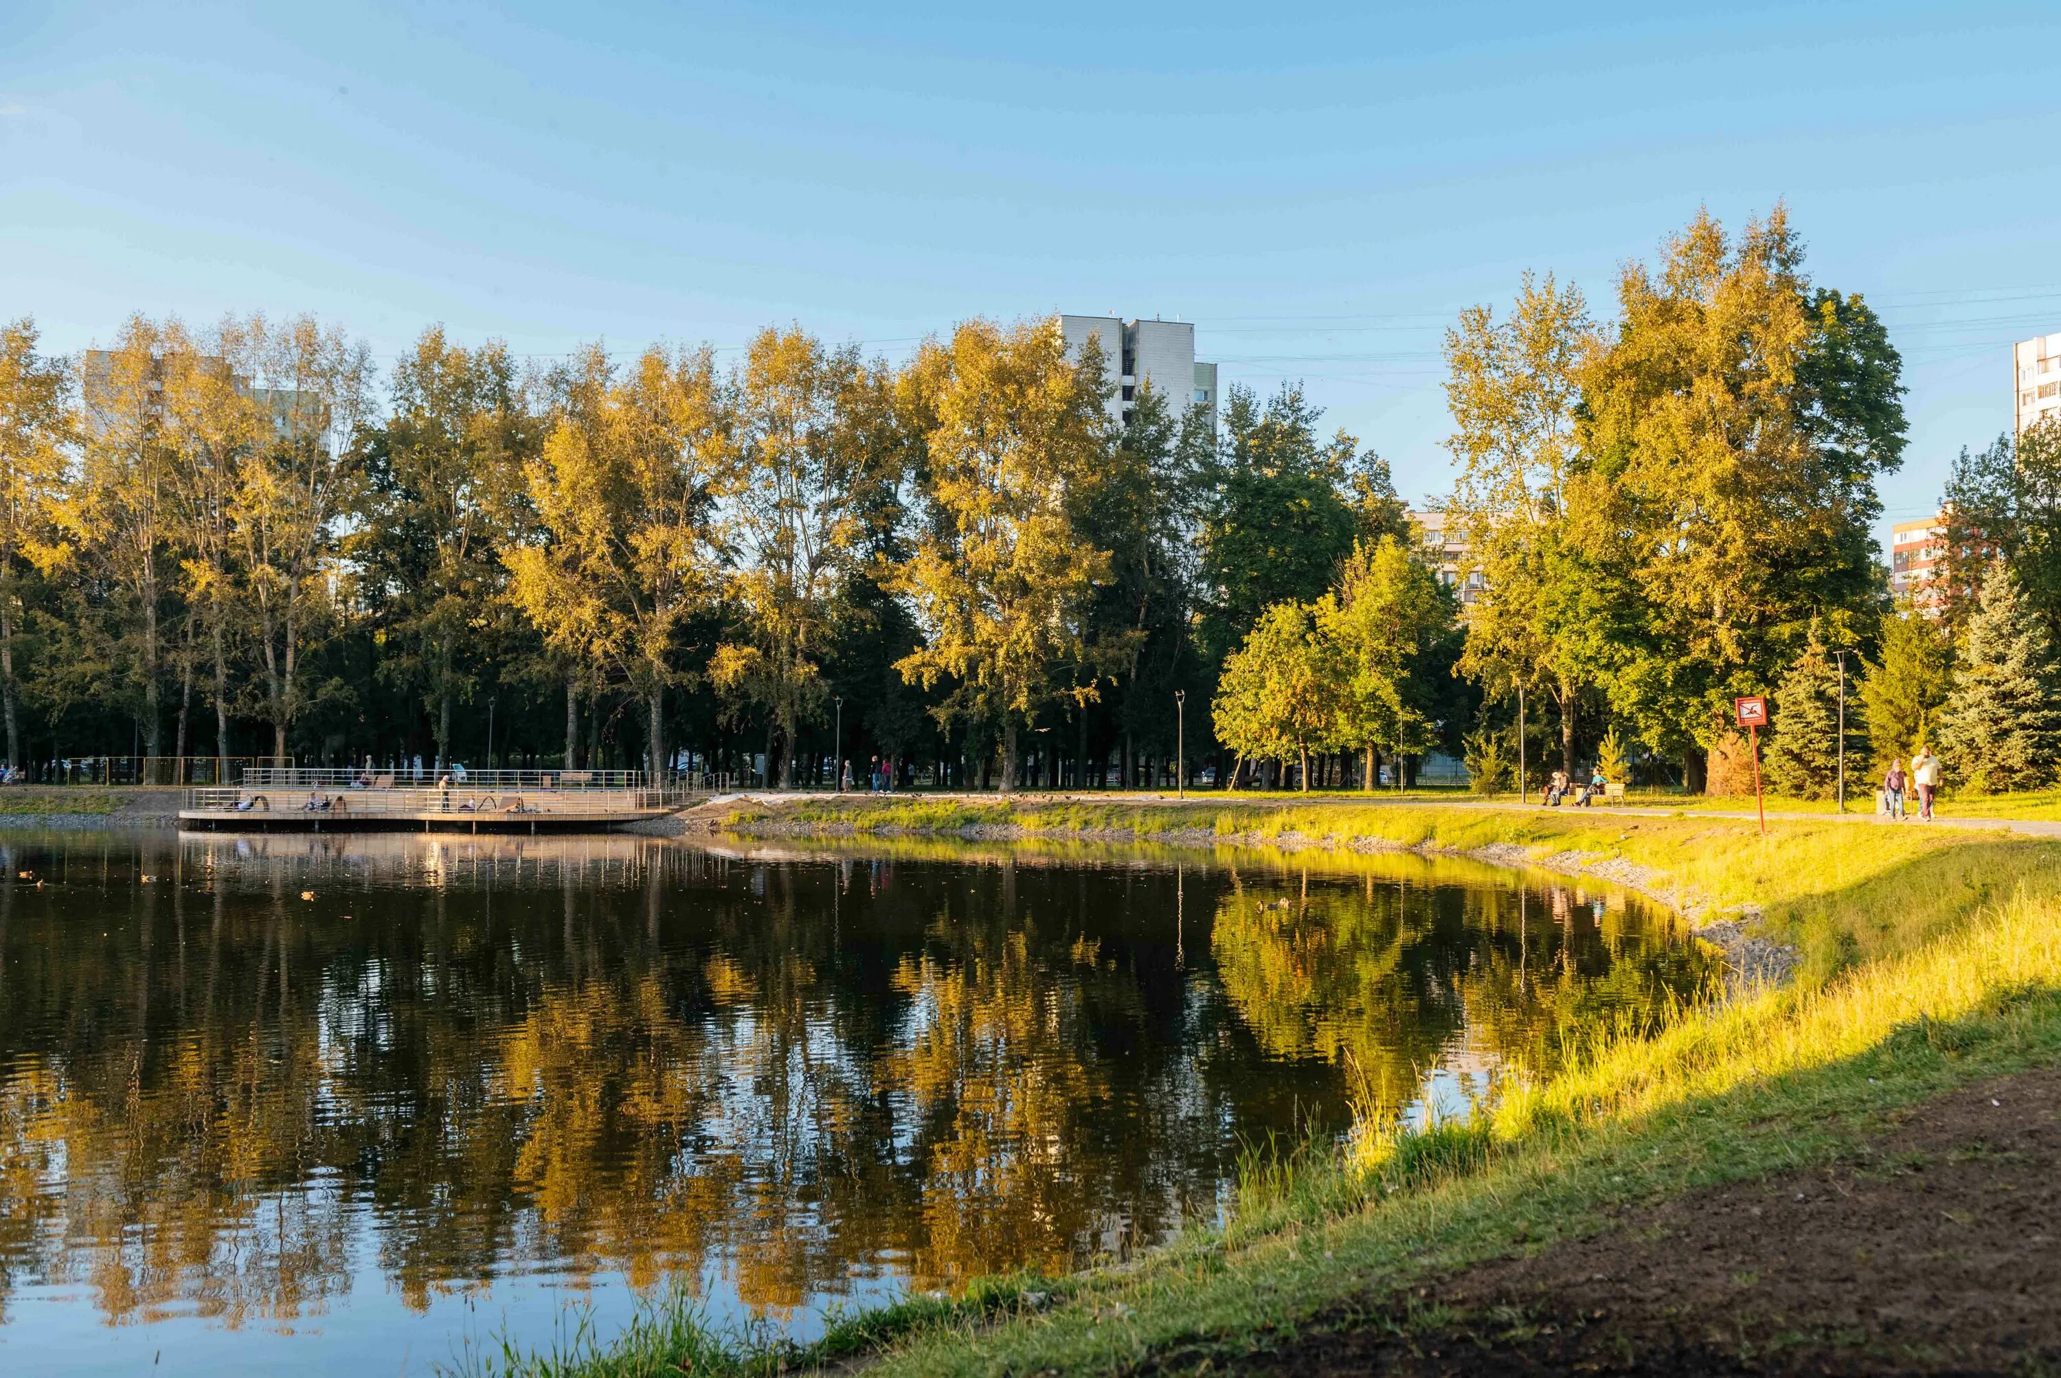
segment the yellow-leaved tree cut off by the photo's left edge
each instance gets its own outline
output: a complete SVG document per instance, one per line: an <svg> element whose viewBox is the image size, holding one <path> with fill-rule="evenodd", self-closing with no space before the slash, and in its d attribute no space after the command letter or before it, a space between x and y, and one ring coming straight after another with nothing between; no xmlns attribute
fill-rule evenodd
<svg viewBox="0 0 2061 1378"><path fill-rule="evenodd" d="M37 352L37 338L31 317L0 325L0 715L8 768L21 766L14 636L23 581L64 560L56 511L76 441L66 360Z"/></svg>

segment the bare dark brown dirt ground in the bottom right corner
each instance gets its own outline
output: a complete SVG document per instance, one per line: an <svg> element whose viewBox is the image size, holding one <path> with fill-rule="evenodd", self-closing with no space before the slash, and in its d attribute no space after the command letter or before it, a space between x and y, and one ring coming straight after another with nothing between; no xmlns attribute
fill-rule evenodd
<svg viewBox="0 0 2061 1378"><path fill-rule="evenodd" d="M1237 1368L2061 1374L2061 1071L1919 1106L1859 1164L1626 1211Z"/></svg>

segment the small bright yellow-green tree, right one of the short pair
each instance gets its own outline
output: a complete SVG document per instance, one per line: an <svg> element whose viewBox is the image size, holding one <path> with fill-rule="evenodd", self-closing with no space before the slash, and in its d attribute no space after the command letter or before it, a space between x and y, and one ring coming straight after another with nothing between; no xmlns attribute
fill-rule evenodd
<svg viewBox="0 0 2061 1378"><path fill-rule="evenodd" d="M1399 762L1420 744L1430 719L1424 661L1451 622L1451 595L1422 556L1393 536L1375 546L1354 544L1338 589L1317 604L1317 626L1340 678L1338 721L1329 735L1340 746L1360 748L1369 791L1379 750L1391 750Z"/></svg>

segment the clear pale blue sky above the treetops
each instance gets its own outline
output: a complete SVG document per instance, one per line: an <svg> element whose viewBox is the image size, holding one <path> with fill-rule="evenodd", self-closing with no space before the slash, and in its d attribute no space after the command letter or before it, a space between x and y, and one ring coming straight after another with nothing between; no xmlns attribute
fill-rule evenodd
<svg viewBox="0 0 2061 1378"><path fill-rule="evenodd" d="M12 0L0 315L890 356L1167 315L1422 496L1459 307L1538 268L1601 313L1700 204L1783 198L1904 350L1917 515L2009 422L2012 340L2061 330L2061 6L1686 10Z"/></svg>

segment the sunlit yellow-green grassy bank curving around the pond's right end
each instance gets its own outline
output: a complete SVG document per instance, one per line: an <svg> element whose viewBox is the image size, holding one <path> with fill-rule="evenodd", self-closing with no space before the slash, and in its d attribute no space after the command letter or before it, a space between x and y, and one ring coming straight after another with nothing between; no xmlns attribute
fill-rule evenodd
<svg viewBox="0 0 2061 1378"><path fill-rule="evenodd" d="M878 1374L1123 1372L1222 1366L1342 1322L1472 1261L1606 1230L1636 1203L1834 1160L1867 1162L1900 1112L1944 1090L2061 1061L2061 845L1721 820L1453 809L1127 805L808 805L761 826L1187 830L1241 842L1379 838L1645 867L1692 902L1760 904L1805 943L1807 978L1686 1011L1636 1042L1509 1092L1469 1123L1369 1127L1338 1153L1255 1164L1226 1228L1129 1269L1012 1279L960 1300L847 1318L810 1349L721 1341L684 1302L620 1345L482 1372L771 1372L874 1351Z"/></svg>

